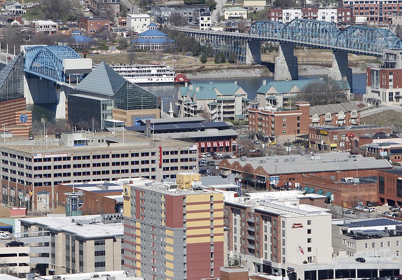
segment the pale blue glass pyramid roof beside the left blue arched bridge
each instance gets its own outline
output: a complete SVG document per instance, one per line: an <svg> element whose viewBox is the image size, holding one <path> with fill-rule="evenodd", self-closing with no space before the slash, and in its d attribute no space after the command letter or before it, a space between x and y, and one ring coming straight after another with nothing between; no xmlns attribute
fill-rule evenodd
<svg viewBox="0 0 402 280"><path fill-rule="evenodd" d="M105 62L101 62L78 85L76 90L113 96L127 80Z"/></svg>

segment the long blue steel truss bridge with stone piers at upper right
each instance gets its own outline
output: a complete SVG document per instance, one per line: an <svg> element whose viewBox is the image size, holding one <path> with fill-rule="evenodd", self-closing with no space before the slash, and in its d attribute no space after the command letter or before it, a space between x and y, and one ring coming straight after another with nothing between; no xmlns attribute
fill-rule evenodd
<svg viewBox="0 0 402 280"><path fill-rule="evenodd" d="M330 75L346 78L352 87L352 70L348 67L348 53L382 56L382 50L402 48L402 42L387 29L349 26L340 30L331 22L292 20L288 24L274 21L258 21L251 25L249 33L234 33L190 28L169 27L195 38L202 46L212 46L215 52L227 56L235 53L242 63L261 63L261 43L279 43L275 58L275 80L298 79L297 57L294 45L328 49L333 51Z"/></svg>

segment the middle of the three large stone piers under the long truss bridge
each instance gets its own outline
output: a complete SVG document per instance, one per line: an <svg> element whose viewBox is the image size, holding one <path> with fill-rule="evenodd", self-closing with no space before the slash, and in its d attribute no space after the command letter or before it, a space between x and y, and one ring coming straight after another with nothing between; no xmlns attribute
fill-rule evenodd
<svg viewBox="0 0 402 280"><path fill-rule="evenodd" d="M293 55L292 44L279 44L275 57L274 80L298 80L297 57Z"/></svg>

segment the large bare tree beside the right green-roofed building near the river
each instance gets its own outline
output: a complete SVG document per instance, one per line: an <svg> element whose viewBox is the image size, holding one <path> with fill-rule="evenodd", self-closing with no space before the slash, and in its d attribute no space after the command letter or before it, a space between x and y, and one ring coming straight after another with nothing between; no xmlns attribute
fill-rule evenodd
<svg viewBox="0 0 402 280"><path fill-rule="evenodd" d="M336 97L342 94L341 84L333 78L324 77L322 80L312 81L302 88L299 99L309 102L311 106L335 103Z"/></svg>

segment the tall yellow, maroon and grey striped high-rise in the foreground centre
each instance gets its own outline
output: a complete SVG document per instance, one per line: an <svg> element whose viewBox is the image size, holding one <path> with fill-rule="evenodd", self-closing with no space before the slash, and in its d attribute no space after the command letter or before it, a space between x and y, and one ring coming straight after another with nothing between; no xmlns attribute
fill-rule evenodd
<svg viewBox="0 0 402 280"><path fill-rule="evenodd" d="M126 272L161 280L220 276L223 194L198 189L141 180L124 186Z"/></svg>

